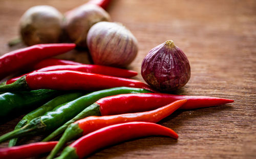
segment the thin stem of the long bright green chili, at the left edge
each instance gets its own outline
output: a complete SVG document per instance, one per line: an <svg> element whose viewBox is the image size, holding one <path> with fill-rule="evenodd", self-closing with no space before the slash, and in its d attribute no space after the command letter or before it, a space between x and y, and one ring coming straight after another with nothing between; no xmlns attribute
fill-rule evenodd
<svg viewBox="0 0 256 159"><path fill-rule="evenodd" d="M41 129L44 127L46 127L46 125L44 125L44 123L41 123L40 121L37 124L35 124L35 123L27 124L26 126L20 128L20 129L13 130L11 132L8 132L8 133L2 135L0 137L0 143L4 142L6 140L9 140L9 139L23 137L24 135L34 134L34 133L36 133L34 130Z"/></svg>

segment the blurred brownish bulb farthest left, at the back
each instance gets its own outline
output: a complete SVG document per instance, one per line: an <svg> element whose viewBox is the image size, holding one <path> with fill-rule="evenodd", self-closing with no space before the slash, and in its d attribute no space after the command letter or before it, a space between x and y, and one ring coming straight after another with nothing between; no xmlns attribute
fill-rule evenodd
<svg viewBox="0 0 256 159"><path fill-rule="evenodd" d="M34 6L20 19L20 34L25 44L57 43L62 33L62 14L51 6Z"/></svg>

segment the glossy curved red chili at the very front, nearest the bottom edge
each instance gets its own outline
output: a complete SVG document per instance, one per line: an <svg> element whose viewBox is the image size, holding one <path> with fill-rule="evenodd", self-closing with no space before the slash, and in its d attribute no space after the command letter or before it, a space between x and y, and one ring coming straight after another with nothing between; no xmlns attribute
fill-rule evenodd
<svg viewBox="0 0 256 159"><path fill-rule="evenodd" d="M57 158L83 158L106 146L151 135L164 135L178 139L178 135L174 130L155 123L129 122L115 124L101 128L79 138L77 141L66 147Z"/></svg>

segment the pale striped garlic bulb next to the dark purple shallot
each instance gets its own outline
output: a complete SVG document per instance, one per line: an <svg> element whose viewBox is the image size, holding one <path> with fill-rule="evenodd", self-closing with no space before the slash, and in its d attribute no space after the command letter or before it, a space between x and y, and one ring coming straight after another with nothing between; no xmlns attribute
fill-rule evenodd
<svg viewBox="0 0 256 159"><path fill-rule="evenodd" d="M87 45L93 62L125 67L138 53L138 41L130 30L116 22L98 22L88 32Z"/></svg>

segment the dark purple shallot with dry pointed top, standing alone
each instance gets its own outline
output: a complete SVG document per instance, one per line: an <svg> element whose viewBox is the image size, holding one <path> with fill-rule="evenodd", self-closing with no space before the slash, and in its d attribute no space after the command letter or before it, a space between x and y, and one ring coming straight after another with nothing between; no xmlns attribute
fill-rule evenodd
<svg viewBox="0 0 256 159"><path fill-rule="evenodd" d="M142 61L141 75L152 87L173 91L188 82L190 65L183 51L168 40L146 55Z"/></svg>

